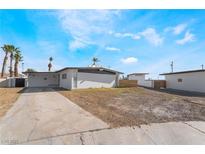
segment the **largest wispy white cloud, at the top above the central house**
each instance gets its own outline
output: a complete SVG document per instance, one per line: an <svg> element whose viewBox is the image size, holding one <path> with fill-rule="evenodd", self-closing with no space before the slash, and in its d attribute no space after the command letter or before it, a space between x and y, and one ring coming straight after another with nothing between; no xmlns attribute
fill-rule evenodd
<svg viewBox="0 0 205 154"><path fill-rule="evenodd" d="M73 38L80 38L81 42L74 41L74 47L86 47L90 44L102 45L102 35L112 29L114 19L120 15L115 10L63 10L58 12L59 21L63 30ZM96 37L97 35L101 37ZM82 44L82 42L86 42ZM76 48L77 49L77 48Z"/></svg>

